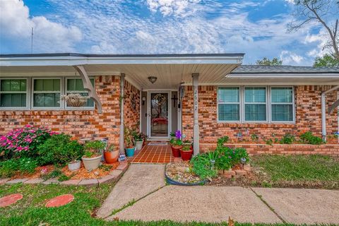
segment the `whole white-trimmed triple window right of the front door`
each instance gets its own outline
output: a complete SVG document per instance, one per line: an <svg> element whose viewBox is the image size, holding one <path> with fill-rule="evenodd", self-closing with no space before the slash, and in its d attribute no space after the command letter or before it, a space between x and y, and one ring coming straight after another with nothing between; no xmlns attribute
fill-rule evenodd
<svg viewBox="0 0 339 226"><path fill-rule="evenodd" d="M218 87L218 121L295 121L292 86Z"/></svg>

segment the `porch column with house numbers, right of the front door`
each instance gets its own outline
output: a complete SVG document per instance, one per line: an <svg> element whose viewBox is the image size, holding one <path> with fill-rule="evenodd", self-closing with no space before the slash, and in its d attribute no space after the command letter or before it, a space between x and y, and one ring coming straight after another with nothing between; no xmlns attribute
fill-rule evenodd
<svg viewBox="0 0 339 226"><path fill-rule="evenodd" d="M199 153L199 112L198 112L198 78L199 73L192 73L193 78L193 107L194 107L194 124L193 124L193 150L194 155Z"/></svg>

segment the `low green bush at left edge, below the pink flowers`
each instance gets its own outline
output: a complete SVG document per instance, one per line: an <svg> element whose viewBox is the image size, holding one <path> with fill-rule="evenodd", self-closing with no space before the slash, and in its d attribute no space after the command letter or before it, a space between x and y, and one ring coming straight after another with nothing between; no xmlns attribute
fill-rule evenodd
<svg viewBox="0 0 339 226"><path fill-rule="evenodd" d="M30 157L0 162L0 177L12 177L15 174L32 174L37 167L37 160Z"/></svg>

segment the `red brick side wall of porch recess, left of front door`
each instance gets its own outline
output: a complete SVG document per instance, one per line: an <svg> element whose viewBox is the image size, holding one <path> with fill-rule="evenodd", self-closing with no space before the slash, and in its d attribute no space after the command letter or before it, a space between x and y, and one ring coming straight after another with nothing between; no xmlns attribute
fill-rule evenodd
<svg viewBox="0 0 339 226"><path fill-rule="evenodd" d="M139 129L140 90L127 81L124 84L124 122L129 128Z"/></svg>

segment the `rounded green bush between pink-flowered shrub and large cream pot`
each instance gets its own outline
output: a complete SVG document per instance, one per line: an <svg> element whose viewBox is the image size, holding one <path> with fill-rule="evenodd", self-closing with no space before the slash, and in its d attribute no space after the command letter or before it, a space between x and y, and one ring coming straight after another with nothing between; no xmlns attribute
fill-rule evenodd
<svg viewBox="0 0 339 226"><path fill-rule="evenodd" d="M64 133L53 135L37 147L40 165L65 164L80 159L83 146Z"/></svg>

